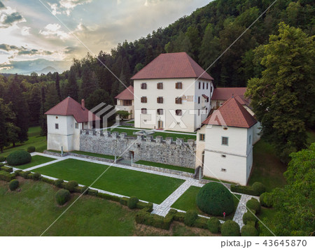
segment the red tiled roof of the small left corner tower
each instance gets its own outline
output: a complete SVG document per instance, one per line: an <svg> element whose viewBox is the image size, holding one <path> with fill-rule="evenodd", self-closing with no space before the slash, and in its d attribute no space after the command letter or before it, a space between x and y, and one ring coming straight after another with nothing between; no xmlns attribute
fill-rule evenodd
<svg viewBox="0 0 315 249"><path fill-rule="evenodd" d="M92 117L92 120L89 119L89 113L90 117ZM45 112L45 115L72 115L78 123L100 120L97 115L94 115L94 113L88 111L87 108L83 108L80 104L78 104L77 101L75 101L71 97L67 97L59 104L52 107L49 111Z"/></svg>

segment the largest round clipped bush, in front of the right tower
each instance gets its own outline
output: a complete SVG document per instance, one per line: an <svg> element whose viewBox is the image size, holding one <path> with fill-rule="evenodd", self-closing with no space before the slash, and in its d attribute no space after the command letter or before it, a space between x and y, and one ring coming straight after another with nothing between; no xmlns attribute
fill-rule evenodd
<svg viewBox="0 0 315 249"><path fill-rule="evenodd" d="M198 208L209 215L229 215L235 209L231 192L221 183L207 183L197 194Z"/></svg>

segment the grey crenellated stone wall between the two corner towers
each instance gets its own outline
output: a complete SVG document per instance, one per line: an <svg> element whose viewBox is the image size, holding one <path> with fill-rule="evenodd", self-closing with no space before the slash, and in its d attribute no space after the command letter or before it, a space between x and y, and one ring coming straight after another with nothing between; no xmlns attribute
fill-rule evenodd
<svg viewBox="0 0 315 249"><path fill-rule="evenodd" d="M134 162L145 160L187 168L195 168L196 145L194 140L183 143L182 138L176 142L173 138L162 140L162 136L127 136L127 134L110 131L80 131L80 150L104 155L117 155L130 159L134 152Z"/></svg>

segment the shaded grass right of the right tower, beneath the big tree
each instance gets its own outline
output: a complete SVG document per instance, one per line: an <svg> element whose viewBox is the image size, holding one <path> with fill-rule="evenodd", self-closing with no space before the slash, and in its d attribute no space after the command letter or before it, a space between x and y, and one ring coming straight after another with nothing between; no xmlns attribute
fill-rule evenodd
<svg viewBox="0 0 315 249"><path fill-rule="evenodd" d="M286 184L283 173L286 165L282 164L274 153L272 145L260 139L253 146L253 172L248 185L255 182L265 184L267 192L274 187L282 187Z"/></svg>

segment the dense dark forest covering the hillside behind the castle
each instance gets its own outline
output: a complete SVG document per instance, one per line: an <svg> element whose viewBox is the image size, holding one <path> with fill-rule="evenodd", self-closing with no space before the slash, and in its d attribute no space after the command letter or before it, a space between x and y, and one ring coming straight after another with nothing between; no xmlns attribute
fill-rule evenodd
<svg viewBox="0 0 315 249"><path fill-rule="evenodd" d="M113 105L114 97L125 89L119 80L132 85L134 73L160 53L188 52L204 69L215 62L207 71L217 87L246 86L248 80L260 77L265 70L258 48L268 43L270 35L279 34L280 22L300 28L307 36L315 33L314 1L278 0L260 17L273 1L211 1L168 27L137 41L118 44L111 52L73 58L71 68L63 73L0 75L1 150L9 143L26 141L28 127L41 125L45 134L43 113L68 96L77 101L85 99L87 108L102 101Z"/></svg>

